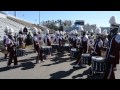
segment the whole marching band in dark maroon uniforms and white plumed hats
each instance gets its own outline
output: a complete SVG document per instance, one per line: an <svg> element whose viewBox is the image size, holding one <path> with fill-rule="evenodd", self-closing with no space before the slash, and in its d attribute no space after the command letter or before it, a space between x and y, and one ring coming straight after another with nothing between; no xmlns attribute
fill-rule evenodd
<svg viewBox="0 0 120 90"><path fill-rule="evenodd" d="M61 53L68 48L71 56L75 55L76 58L74 68L85 67L85 64L88 64L91 66L89 76L93 76L94 71L96 71L104 72L104 79L115 79L114 71L117 69L116 65L119 64L120 34L118 30L120 25L116 23L115 16L110 18L109 23L109 34L106 29L101 31L99 27L95 31L91 29L87 32L81 26L79 32L72 30L69 33L56 31L50 34L47 29L44 36L41 30L33 28L33 37L26 27L21 29L18 35L12 35L13 29L6 27L3 42L4 47L7 48L5 58L9 54L7 67L10 67L12 59L14 59L14 65L18 64L17 57L21 52L21 56L26 55L25 47L27 45L34 45L37 52L36 63L44 62L43 53L52 55L52 49L56 49L57 53ZM72 49L75 49L75 51L73 52ZM75 54L76 52L77 54ZM102 70L104 65L104 70Z"/></svg>

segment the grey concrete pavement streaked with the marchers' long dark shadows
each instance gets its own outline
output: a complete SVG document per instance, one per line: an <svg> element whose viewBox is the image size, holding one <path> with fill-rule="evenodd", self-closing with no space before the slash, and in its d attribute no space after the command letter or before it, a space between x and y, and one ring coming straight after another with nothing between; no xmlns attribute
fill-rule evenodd
<svg viewBox="0 0 120 90"><path fill-rule="evenodd" d="M70 53L53 53L45 62L36 64L36 55L33 48L27 48L27 56L18 57L18 66L7 68L7 60L2 59L4 54L0 52L0 79L102 79L103 74L88 77L90 66L74 69L76 60L70 59ZM120 65L115 71L116 79L120 79Z"/></svg>

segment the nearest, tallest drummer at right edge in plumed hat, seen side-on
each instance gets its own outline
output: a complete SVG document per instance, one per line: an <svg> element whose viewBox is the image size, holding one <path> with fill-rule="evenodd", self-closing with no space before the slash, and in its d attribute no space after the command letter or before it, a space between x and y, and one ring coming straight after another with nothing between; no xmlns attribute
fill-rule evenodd
<svg viewBox="0 0 120 90"><path fill-rule="evenodd" d="M116 23L115 16L112 16L109 20L110 33L109 33L109 44L106 51L106 71L104 79L115 79L114 68L119 64L119 51L120 51L120 33L118 30L120 24Z"/></svg>

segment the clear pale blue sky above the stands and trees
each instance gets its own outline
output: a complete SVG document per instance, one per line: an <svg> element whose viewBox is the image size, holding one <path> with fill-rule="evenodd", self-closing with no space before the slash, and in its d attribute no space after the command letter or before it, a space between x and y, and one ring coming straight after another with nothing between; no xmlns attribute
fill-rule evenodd
<svg viewBox="0 0 120 90"><path fill-rule="evenodd" d="M14 11L5 11L14 15ZM97 24L97 26L109 27L109 19L116 16L120 23L120 11L40 11L40 22L46 20L84 20L85 23ZM16 17L38 24L39 11L16 11Z"/></svg>

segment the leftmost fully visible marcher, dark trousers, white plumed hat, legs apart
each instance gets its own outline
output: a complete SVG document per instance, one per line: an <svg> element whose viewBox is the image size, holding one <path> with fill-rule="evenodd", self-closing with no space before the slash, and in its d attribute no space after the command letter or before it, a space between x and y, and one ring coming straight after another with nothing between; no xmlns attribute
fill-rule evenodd
<svg viewBox="0 0 120 90"><path fill-rule="evenodd" d="M8 60L8 65L7 67L10 67L12 63L12 59L14 59L14 65L18 64L17 61L17 56L16 56L16 45L14 43L14 37L12 36L13 29L9 29L9 35L8 38L6 39L6 44L8 45L8 51L9 51L9 60Z"/></svg>

